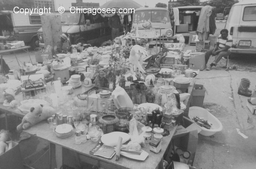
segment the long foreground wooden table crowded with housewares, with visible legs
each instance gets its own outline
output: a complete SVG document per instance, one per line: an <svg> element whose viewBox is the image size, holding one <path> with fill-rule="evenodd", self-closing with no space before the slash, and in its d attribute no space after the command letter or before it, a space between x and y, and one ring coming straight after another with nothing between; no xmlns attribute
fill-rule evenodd
<svg viewBox="0 0 256 169"><path fill-rule="evenodd" d="M188 89L188 93L192 93L193 85L195 84L195 80L191 83ZM75 93L83 93L85 91L90 90L88 87L80 87L80 89L76 89ZM20 96L19 96L20 97ZM21 96L22 97L22 96ZM184 110L184 115L187 116L188 109L189 109L189 102L191 101L191 98L189 98L188 101L184 102L186 105L186 110ZM17 111L16 109L12 108L6 108L0 105L0 112L4 112L6 114L14 114L19 117L23 117L25 114ZM69 150L72 150L79 155L82 155L84 159L86 159L86 163L89 163L91 165L95 165L98 167L103 167L104 169L134 169L134 168L147 168L147 169L163 169L163 159L164 154L168 151L170 148L171 140L173 135L175 134L177 125L173 128L173 130L170 131L170 135L163 137L163 143L161 145L161 151L159 153L153 153L149 150L149 144L147 144L146 147L143 147L142 149L145 150L147 153L149 153L148 157L145 161L137 161L132 160L129 158L122 157L119 161L115 161L115 158L107 159L102 158L99 156L94 156L89 154L89 151L92 150L93 147L97 143L92 142L91 140L87 140L86 143L82 144L75 144L75 134L72 134L72 136L68 138L58 138L54 134L52 130L49 129L49 125L47 122L43 121L41 123L38 123L31 128L25 130L25 132L29 134L35 134L36 136L45 139L47 142L49 142L49 148L55 146L56 149L56 164L59 168L58 164L62 164L62 148L67 148ZM73 131L75 132L75 131ZM51 151L50 151L51 152ZM51 156L50 153L50 166L49 168L52 169L51 164Z"/></svg>

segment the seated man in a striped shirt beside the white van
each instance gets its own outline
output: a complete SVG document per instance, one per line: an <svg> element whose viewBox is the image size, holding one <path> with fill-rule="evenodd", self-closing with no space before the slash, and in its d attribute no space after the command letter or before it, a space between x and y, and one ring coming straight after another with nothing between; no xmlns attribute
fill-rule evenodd
<svg viewBox="0 0 256 169"><path fill-rule="evenodd" d="M221 30L214 49L208 50L205 54L205 64L207 64L211 55L217 56L216 59L206 68L206 71L211 70L212 66L216 66L222 57L226 57L231 54L228 49L231 48L232 42L233 39L231 35L228 35L228 30Z"/></svg>

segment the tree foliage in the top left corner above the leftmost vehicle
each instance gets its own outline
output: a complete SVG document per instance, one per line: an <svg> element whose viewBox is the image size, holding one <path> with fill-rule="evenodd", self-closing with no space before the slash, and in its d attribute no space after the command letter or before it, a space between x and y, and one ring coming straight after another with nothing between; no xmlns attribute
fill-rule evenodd
<svg viewBox="0 0 256 169"><path fill-rule="evenodd" d="M33 0L0 0L0 10L13 11L14 7L16 6L19 8L32 8L33 5Z"/></svg>

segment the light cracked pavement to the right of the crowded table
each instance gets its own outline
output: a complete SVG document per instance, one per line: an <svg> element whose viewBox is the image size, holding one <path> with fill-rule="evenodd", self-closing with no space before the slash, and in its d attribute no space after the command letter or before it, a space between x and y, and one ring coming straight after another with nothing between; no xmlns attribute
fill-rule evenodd
<svg viewBox="0 0 256 169"><path fill-rule="evenodd" d="M203 169L256 168L256 115L246 106L248 97L238 95L242 78L250 79L250 89L256 85L256 72L212 69L200 71L196 84L204 85L204 103L220 104L225 108L214 114L223 124L223 131L214 137L198 135L194 166ZM236 128L248 136L244 139Z"/></svg>

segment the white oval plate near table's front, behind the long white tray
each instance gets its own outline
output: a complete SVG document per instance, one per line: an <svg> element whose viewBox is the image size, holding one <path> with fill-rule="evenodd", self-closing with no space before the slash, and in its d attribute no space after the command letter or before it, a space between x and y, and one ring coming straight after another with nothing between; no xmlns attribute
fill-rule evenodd
<svg viewBox="0 0 256 169"><path fill-rule="evenodd" d="M108 134L103 134L103 136L101 136L101 141L108 146L117 146L119 136L122 137L122 144L130 140L129 134L120 131L114 131Z"/></svg>

